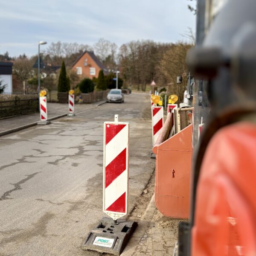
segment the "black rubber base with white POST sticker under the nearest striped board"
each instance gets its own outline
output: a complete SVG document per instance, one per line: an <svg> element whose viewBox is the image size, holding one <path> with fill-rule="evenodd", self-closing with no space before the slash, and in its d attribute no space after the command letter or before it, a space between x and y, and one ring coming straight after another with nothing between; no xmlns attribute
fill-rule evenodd
<svg viewBox="0 0 256 256"><path fill-rule="evenodd" d="M134 221L118 219L114 224L112 218L104 217L97 227L87 235L82 249L119 256L136 227L137 222Z"/></svg>

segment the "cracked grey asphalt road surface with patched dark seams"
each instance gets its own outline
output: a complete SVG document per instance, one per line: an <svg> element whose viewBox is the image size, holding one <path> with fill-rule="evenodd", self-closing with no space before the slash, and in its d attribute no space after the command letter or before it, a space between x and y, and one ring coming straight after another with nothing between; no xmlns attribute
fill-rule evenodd
<svg viewBox="0 0 256 256"><path fill-rule="evenodd" d="M130 122L129 211L154 169L148 94L0 137L0 256L81 250L102 212L103 122Z"/></svg>

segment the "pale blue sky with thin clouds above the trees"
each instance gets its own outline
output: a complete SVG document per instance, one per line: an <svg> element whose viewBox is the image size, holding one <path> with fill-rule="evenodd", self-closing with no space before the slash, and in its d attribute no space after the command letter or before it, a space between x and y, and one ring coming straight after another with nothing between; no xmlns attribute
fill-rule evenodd
<svg viewBox="0 0 256 256"><path fill-rule="evenodd" d="M175 43L195 31L189 0L0 0L0 54L37 54L38 42L119 47L134 40ZM42 45L41 49L47 45Z"/></svg>

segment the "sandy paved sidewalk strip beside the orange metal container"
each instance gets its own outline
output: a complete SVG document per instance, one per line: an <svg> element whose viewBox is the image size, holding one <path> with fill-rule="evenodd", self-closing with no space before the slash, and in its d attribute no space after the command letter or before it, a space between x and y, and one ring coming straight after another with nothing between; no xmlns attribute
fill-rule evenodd
<svg viewBox="0 0 256 256"><path fill-rule="evenodd" d="M173 255L179 222L186 220L168 218L158 211L154 203L154 183L153 176L128 217L131 221L137 221L138 227L121 256Z"/></svg>

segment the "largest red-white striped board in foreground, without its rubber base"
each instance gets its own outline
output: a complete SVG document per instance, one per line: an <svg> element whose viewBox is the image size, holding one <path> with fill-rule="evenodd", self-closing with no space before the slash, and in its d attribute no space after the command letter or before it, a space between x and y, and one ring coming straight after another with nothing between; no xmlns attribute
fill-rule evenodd
<svg viewBox="0 0 256 256"><path fill-rule="evenodd" d="M128 209L128 145L129 123L104 123L103 212L114 220Z"/></svg>

